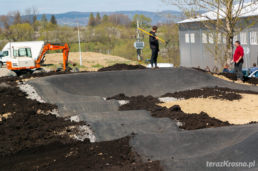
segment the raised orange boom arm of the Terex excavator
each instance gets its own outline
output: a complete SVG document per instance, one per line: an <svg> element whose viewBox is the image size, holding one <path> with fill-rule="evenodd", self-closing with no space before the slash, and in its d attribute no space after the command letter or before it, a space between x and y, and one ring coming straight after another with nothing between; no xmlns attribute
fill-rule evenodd
<svg viewBox="0 0 258 171"><path fill-rule="evenodd" d="M68 66L68 52L69 48L67 43L62 44L62 43L46 43L45 45L42 46L39 56L37 57L37 60L35 61L36 67L39 68L43 65L45 61L45 54L48 53L51 50L58 50L58 49L63 49L63 70L66 69Z"/></svg>

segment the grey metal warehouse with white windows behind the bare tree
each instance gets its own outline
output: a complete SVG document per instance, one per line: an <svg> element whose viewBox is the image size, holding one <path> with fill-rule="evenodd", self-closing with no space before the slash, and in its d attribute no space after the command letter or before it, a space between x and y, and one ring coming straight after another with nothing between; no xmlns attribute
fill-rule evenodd
<svg viewBox="0 0 258 171"><path fill-rule="evenodd" d="M253 15L254 11L252 12ZM203 15L210 15L211 12L206 12ZM250 14L249 14L250 15ZM245 14L243 17L247 17ZM258 16L258 12L255 11L255 16ZM205 31L205 27L200 27L198 21L200 19L186 19L178 22L179 27L179 40L180 40L180 60L181 65L185 67L195 67L200 66L201 69L205 69L206 66L209 66L212 70L215 59L207 54L205 50L205 43L214 43L214 35ZM218 33L218 39L221 43L226 42L223 33ZM253 63L257 63L258 55L258 26L252 26L248 29L242 30L239 34L233 37L233 44L236 40L240 41L240 45L244 48L244 51L247 51L244 55L244 64L243 68L249 68L253 66ZM233 49L233 53L236 47ZM248 53L249 52L249 53ZM232 58L230 57L230 60ZM217 62L217 67L220 70L224 68Z"/></svg>

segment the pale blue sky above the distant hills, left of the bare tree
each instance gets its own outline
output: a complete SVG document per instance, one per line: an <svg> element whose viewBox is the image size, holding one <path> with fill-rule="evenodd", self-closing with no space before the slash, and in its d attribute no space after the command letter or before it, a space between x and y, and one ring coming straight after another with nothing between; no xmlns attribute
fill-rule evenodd
<svg viewBox="0 0 258 171"><path fill-rule="evenodd" d="M27 7L35 6L39 14L59 14L70 11L78 12L114 12L114 11L151 11L177 10L171 5L164 5L161 0L5 0L1 1L0 15L10 11L23 12Z"/></svg>

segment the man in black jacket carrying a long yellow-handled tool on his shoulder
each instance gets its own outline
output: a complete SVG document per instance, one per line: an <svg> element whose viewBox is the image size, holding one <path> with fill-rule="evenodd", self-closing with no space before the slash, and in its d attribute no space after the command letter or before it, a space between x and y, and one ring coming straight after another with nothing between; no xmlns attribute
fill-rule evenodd
<svg viewBox="0 0 258 171"><path fill-rule="evenodd" d="M150 34L153 35L153 36L149 35L149 46L151 49L151 59L150 59L151 69L160 68L157 66L157 58L158 58L158 52L159 52L158 37L155 34L155 32L157 32L157 29L158 29L157 26L152 26L152 31L149 32ZM155 67L153 67L153 62Z"/></svg>

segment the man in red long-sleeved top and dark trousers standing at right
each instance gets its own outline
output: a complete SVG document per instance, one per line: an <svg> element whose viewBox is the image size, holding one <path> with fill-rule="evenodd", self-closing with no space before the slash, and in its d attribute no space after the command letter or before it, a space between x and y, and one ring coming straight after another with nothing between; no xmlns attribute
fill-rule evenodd
<svg viewBox="0 0 258 171"><path fill-rule="evenodd" d="M234 65L234 73L236 73L236 76L238 78L238 82L239 83L243 83L244 81L244 75L242 73L242 66L244 63L244 49L240 46L240 42L237 40L235 42L235 46L236 46L236 51L233 57L233 60L231 62L235 62Z"/></svg>

